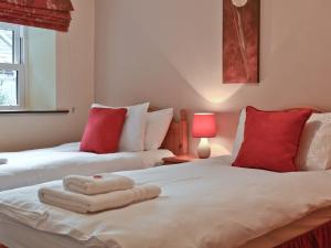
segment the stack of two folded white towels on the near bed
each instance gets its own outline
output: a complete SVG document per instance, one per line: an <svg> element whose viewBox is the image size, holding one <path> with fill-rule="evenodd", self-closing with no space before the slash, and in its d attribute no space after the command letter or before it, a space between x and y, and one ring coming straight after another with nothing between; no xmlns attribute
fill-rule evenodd
<svg viewBox="0 0 331 248"><path fill-rule="evenodd" d="M41 187L39 198L45 204L88 214L152 200L160 193L157 185L135 186L131 179L122 175L68 175L63 179L63 187Z"/></svg>

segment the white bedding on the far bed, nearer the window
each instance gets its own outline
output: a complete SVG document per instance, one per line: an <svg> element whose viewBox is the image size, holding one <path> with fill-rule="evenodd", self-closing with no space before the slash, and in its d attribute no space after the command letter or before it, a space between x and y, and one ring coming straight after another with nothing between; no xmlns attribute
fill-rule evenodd
<svg viewBox="0 0 331 248"><path fill-rule="evenodd" d="M68 143L55 148L0 153L1 159L8 159L7 164L0 165L0 192L60 180L68 174L93 175L147 169L160 164L162 158L173 154L169 150L95 154L79 152L78 148L79 143Z"/></svg>

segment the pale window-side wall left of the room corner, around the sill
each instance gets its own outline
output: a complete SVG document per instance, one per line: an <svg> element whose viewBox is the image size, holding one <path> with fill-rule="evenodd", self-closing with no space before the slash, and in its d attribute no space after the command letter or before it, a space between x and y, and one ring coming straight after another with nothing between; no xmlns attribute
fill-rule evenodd
<svg viewBox="0 0 331 248"><path fill-rule="evenodd" d="M94 0L73 0L68 33L56 36L56 103L70 115L1 115L0 151L77 141L94 98Z"/></svg>

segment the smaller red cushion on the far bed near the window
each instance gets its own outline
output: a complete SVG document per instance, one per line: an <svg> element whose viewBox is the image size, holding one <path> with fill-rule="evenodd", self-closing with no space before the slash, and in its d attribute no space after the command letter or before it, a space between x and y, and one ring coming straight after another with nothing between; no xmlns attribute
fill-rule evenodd
<svg viewBox="0 0 331 248"><path fill-rule="evenodd" d="M81 141L81 151L113 153L118 151L127 109L92 108Z"/></svg>

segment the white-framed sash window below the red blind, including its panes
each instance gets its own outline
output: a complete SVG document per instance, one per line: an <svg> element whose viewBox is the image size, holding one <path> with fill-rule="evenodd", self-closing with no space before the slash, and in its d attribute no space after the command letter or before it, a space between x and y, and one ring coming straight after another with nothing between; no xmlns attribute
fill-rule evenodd
<svg viewBox="0 0 331 248"><path fill-rule="evenodd" d="M23 28L0 22L0 109L24 107Z"/></svg>

